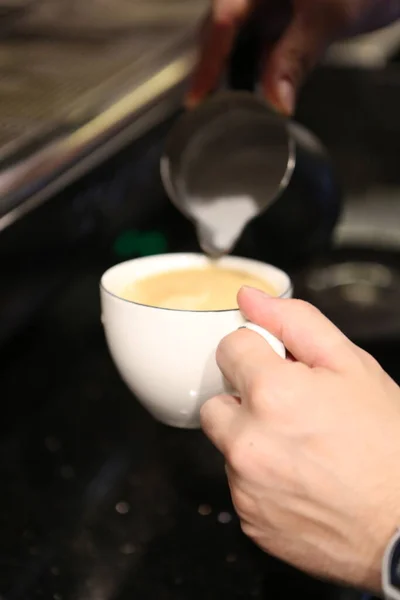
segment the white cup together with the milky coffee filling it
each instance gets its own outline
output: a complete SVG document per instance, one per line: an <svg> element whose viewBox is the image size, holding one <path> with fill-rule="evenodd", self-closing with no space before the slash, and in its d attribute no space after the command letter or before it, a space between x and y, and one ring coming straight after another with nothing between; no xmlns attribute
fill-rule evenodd
<svg viewBox="0 0 400 600"><path fill-rule="evenodd" d="M102 322L111 356L126 385L157 420L198 428L203 403L232 392L215 351L236 329L252 329L285 356L279 340L240 313L236 293L242 285L283 298L292 295L286 273L234 256L210 263L201 254L156 255L116 265L103 275Z"/></svg>

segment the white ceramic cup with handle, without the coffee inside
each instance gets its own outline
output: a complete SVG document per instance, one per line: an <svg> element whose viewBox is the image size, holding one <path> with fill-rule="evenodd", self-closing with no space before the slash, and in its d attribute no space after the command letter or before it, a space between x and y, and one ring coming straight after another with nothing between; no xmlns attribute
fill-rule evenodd
<svg viewBox="0 0 400 600"><path fill-rule="evenodd" d="M238 309L172 310L121 298L135 279L207 264L201 254L137 258L106 271L100 284L105 335L122 379L155 419L186 429L200 427L200 408L206 400L231 391L215 360L216 348L227 334L248 327L285 356L283 344L246 322ZM276 267L235 256L223 257L218 264L265 279L280 297L292 295L289 276Z"/></svg>

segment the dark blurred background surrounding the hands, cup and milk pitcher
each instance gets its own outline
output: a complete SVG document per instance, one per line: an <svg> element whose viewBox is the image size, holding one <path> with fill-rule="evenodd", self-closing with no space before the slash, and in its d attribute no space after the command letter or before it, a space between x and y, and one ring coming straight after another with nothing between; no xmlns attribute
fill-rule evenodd
<svg viewBox="0 0 400 600"><path fill-rule="evenodd" d="M141 409L103 339L98 281L108 266L198 250L163 192L159 160L207 6L0 0L4 600L359 596L242 536L220 457L200 432L165 428ZM257 90L259 48L250 24L221 86ZM287 269L296 294L398 381L399 107L400 24L334 44L296 120L330 153L338 218L308 243L309 188L295 186L235 250Z"/></svg>

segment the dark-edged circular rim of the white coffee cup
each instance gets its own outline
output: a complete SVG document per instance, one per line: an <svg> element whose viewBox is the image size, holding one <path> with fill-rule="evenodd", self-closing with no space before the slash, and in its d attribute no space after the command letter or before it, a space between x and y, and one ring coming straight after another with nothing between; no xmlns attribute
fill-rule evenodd
<svg viewBox="0 0 400 600"><path fill-rule="evenodd" d="M142 302L136 302L135 300L128 300L127 298L122 298L122 296L120 296L119 294L115 294L114 292L112 292L111 290L107 289L107 287L104 284L104 278L107 276L107 274L112 271L113 269L122 266L124 264L127 263L133 263L133 262L139 262L145 259L149 259L149 258L156 258L157 256L159 257L164 257L164 256L169 256L171 258L174 257L178 257L178 256L186 256L186 257L205 257L204 254L201 254L200 252L171 252L171 253L163 253L163 254L155 254L153 256L140 256L138 258L132 258L129 260L125 260L123 262L117 263L115 265L113 265L112 267L109 267L101 276L100 278L100 289L108 294L109 296L112 296L113 298L115 298L116 300L120 300L121 302L125 302L127 304L132 304L134 306L142 306L144 308L151 308L154 310L164 310L164 311L169 311L169 312L173 312L173 313L193 313L193 314L202 314L202 315L208 315L208 314L216 314L216 313L233 313L233 312L238 312L240 311L239 308L221 308L221 309L217 309L217 310L194 310L194 309L181 309L181 308L166 308L163 306L154 306L152 304L143 304ZM260 260L256 260L256 259L252 259L252 258L246 258L246 257L242 257L242 256L231 256L231 255L227 255L226 257L222 257L223 258L233 258L233 259L239 259L239 260L243 260L243 261L248 261L251 263L259 263L260 265L263 265L265 267L271 267L274 270L278 271L279 273L281 273L282 275L285 275L286 278L288 279L288 286L285 288L285 291L283 291L281 294L279 294L279 296L273 296L273 298L277 298L277 299L282 299L285 298L287 296L287 294L289 292L291 292L292 288L293 288L293 283L292 283L292 279L290 277L290 275L288 275L288 273L286 273L286 271L284 271L283 269L280 269L279 267L276 267L275 265L271 265L269 263L264 263ZM190 268L190 267L187 267ZM176 269L177 271L179 271L179 268ZM160 271L161 272L161 271ZM156 273L154 273L156 274Z"/></svg>

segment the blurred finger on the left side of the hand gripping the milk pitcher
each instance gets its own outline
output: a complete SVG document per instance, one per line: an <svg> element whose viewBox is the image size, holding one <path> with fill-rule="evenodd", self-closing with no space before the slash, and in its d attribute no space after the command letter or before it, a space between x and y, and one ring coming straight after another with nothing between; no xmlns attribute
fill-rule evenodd
<svg viewBox="0 0 400 600"><path fill-rule="evenodd" d="M200 48L185 104L196 106L219 82L242 23L250 13L252 0L217 0L214 2Z"/></svg>

